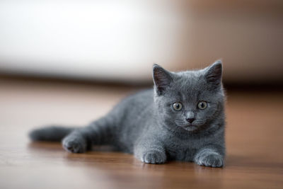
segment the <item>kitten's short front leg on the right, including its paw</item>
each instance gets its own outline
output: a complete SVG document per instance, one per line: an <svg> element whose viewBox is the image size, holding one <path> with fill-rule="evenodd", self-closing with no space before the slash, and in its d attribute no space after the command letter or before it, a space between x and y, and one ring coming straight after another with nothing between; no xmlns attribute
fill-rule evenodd
<svg viewBox="0 0 283 189"><path fill-rule="evenodd" d="M216 146L204 147L195 154L194 161L200 166L222 167L224 166L224 148Z"/></svg>

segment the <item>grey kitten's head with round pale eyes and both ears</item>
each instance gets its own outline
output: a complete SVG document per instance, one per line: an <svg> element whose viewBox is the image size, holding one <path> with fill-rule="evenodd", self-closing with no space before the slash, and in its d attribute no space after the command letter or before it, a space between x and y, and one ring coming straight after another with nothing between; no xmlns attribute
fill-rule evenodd
<svg viewBox="0 0 283 189"><path fill-rule="evenodd" d="M223 113L220 60L197 71L171 72L154 64L154 102L167 127L189 132L209 127Z"/></svg>

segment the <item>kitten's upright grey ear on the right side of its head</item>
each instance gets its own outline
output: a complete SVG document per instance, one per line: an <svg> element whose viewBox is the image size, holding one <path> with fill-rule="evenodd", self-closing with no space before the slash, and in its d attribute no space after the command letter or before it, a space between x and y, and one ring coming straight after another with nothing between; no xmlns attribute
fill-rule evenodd
<svg viewBox="0 0 283 189"><path fill-rule="evenodd" d="M212 84L212 86L220 86L221 78L222 78L222 62L221 60L217 60L212 65L206 68L206 72L204 74L207 83Z"/></svg>

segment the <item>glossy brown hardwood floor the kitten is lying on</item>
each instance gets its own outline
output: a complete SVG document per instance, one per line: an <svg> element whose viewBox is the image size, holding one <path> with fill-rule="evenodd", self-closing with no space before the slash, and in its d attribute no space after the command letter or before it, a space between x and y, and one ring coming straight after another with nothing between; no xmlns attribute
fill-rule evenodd
<svg viewBox="0 0 283 189"><path fill-rule="evenodd" d="M131 154L69 154L27 133L84 125L137 88L0 79L0 188L283 188L282 92L228 91L224 168L143 164Z"/></svg>

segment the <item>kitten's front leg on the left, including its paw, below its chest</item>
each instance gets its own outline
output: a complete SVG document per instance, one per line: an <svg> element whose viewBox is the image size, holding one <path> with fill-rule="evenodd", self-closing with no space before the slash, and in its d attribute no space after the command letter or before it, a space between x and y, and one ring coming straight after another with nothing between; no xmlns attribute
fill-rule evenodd
<svg viewBox="0 0 283 189"><path fill-rule="evenodd" d="M134 156L147 164L166 162L166 151L161 142L155 139L142 139L134 146Z"/></svg>

